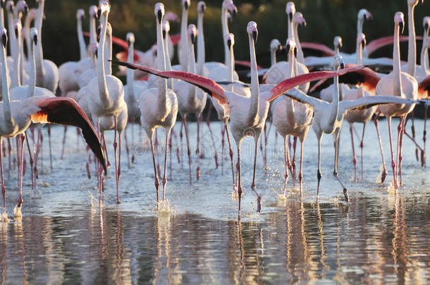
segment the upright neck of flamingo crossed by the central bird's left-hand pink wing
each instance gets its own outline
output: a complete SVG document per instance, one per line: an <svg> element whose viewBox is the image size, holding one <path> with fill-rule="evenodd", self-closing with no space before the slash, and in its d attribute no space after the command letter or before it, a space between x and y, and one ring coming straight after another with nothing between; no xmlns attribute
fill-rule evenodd
<svg viewBox="0 0 430 285"><path fill-rule="evenodd" d="M163 20L161 19L161 23ZM182 39L182 35L181 35ZM182 52L187 52L186 50L182 50ZM161 32L161 24L159 21L156 21L156 60L159 70L166 70L166 61L164 57L164 41L163 34ZM157 110L159 110L159 115L162 118L166 118L165 114L167 111L167 80L166 78L159 77L158 82L158 106Z"/></svg>

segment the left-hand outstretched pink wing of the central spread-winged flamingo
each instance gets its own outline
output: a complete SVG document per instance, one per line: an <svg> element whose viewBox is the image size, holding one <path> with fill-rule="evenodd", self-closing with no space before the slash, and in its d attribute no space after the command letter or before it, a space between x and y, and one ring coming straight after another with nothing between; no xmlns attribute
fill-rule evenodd
<svg viewBox="0 0 430 285"><path fill-rule="evenodd" d="M214 96L215 99L217 99L219 103L221 103L221 105L227 103L226 95L224 94L225 90L223 89L223 87L214 82L214 80L211 80L207 77L184 71L161 71L156 68L149 68L148 66L138 65L135 63L125 63L123 61L112 61L112 63L123 65L131 69L142 70L159 77L176 78L178 80L183 80L185 82L195 85L196 87L199 87L207 94Z"/></svg>

